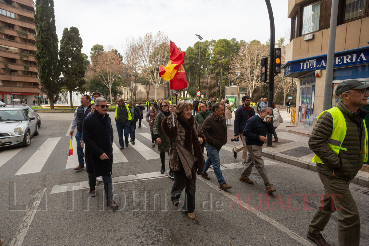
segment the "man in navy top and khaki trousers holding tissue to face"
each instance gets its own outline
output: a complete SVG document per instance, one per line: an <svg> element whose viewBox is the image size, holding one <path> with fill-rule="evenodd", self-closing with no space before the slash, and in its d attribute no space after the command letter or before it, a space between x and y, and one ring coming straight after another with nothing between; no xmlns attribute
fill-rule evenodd
<svg viewBox="0 0 369 246"><path fill-rule="evenodd" d="M276 191L276 189L273 188L272 184L270 184L268 176L266 175L264 161L261 157L261 150L264 142L266 141L266 135L268 133L273 134L274 132L272 118L267 117L266 121L264 121L267 115L272 116L272 112L273 108L262 107L258 115L254 115L246 122L246 126L242 134L245 136L246 147L249 154L247 156L244 171L242 171L241 177L239 178L239 180L243 182L254 184L254 181L249 179L249 176L251 174L252 167L255 166L263 179L266 191L268 191L269 194Z"/></svg>

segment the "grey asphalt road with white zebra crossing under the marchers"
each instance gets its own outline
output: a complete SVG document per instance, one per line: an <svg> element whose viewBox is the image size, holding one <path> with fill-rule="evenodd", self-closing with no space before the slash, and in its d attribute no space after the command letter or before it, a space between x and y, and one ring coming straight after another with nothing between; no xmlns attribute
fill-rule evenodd
<svg viewBox="0 0 369 246"><path fill-rule="evenodd" d="M170 205L173 181L158 172L159 152L151 148L143 121L146 128L136 129L138 147L114 153L114 194L121 209L111 211L105 206L102 184L98 183L98 195L90 198L86 171L69 168L77 166L76 150L68 160L73 114L39 115L40 134L29 147L0 149L4 245L315 245L306 232L320 204L315 194L322 194L324 187L313 171L264 157L277 189L268 195L255 169L254 185L238 180L241 155L235 160L226 146L220 159L232 189L220 190L211 170L211 180L198 176L196 219L190 220ZM113 129L119 146L114 124ZM361 245L369 245L369 196L360 192L364 187L350 187L360 212ZM338 245L337 213L323 233L331 245Z"/></svg>

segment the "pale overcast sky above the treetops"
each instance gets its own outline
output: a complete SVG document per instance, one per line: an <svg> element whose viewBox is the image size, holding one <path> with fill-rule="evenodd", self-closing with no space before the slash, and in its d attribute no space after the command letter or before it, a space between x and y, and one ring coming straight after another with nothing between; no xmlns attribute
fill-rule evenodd
<svg viewBox="0 0 369 246"><path fill-rule="evenodd" d="M289 31L288 0L270 0L276 41ZM56 34L77 27L83 39L82 52L90 56L95 44L113 45L123 53L126 38L162 31L186 51L204 40L270 38L268 10L264 0L54 0Z"/></svg>

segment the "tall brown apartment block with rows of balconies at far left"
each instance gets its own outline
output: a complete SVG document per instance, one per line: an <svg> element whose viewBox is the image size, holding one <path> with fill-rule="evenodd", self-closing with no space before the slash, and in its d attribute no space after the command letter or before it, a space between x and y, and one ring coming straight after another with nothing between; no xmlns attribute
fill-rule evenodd
<svg viewBox="0 0 369 246"><path fill-rule="evenodd" d="M5 103L11 95L30 105L40 98L34 11L33 0L0 0L0 96Z"/></svg>

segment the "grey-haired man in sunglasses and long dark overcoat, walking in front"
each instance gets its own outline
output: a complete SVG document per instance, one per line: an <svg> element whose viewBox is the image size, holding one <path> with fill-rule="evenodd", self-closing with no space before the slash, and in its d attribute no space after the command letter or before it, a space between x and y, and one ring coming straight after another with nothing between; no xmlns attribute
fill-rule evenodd
<svg viewBox="0 0 369 246"><path fill-rule="evenodd" d="M90 196L96 195L96 177L103 176L106 205L117 209L113 200L113 183L111 173L113 166L113 127L109 115L107 101L98 97L94 101L95 111L88 115L82 124L83 141L85 142L86 171L89 175Z"/></svg>

